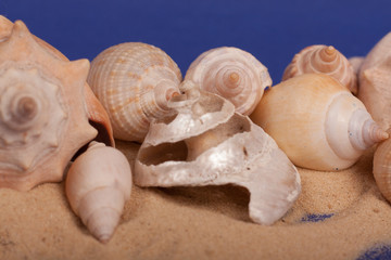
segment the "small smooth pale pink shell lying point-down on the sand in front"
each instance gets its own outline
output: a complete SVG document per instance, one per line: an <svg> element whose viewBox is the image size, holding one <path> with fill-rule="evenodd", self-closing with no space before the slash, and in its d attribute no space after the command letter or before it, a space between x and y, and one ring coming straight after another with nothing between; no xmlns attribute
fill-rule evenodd
<svg viewBox="0 0 391 260"><path fill-rule="evenodd" d="M102 243L114 233L130 190L126 157L96 141L76 158L66 177L65 192L73 211Z"/></svg>

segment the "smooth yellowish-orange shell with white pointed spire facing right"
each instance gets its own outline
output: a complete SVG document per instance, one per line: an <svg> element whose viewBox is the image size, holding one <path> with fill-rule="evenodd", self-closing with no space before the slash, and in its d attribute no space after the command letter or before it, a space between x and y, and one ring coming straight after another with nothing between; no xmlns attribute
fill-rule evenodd
<svg viewBox="0 0 391 260"><path fill-rule="evenodd" d="M325 74L304 74L266 91L250 118L295 166L341 170L388 138L364 104Z"/></svg>

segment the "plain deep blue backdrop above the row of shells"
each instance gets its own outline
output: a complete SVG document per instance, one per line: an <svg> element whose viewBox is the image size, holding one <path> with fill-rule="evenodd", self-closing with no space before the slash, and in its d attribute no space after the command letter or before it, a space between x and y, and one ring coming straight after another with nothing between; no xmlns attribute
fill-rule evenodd
<svg viewBox="0 0 391 260"><path fill-rule="evenodd" d="M0 0L0 11L71 60L142 41L167 52L185 74L202 52L232 46L267 66L274 83L306 46L365 55L391 30L390 0Z"/></svg>

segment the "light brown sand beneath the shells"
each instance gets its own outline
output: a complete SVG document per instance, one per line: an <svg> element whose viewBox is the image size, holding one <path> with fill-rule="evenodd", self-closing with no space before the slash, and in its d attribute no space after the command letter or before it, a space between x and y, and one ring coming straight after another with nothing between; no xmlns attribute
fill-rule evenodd
<svg viewBox="0 0 391 260"><path fill-rule="evenodd" d="M133 165L139 146L117 147ZM391 206L371 160L368 151L348 170L299 168L302 194L272 226L250 221L241 187L134 186L105 245L72 212L64 183L1 188L0 259L356 259L391 245Z"/></svg>

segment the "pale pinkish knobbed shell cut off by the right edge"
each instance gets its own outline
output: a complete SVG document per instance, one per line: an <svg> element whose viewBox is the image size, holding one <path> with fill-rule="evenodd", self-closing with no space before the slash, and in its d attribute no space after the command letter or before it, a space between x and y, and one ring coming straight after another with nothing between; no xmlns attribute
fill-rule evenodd
<svg viewBox="0 0 391 260"><path fill-rule="evenodd" d="M358 99L382 128L391 127L391 32L368 53L360 70Z"/></svg>

